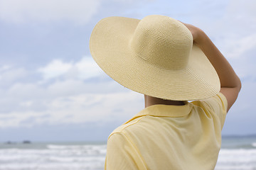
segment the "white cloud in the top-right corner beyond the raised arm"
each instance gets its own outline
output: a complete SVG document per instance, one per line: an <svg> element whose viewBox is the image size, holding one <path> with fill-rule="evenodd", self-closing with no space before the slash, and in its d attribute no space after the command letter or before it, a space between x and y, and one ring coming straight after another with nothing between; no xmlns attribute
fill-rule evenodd
<svg viewBox="0 0 256 170"><path fill-rule="evenodd" d="M245 52L256 47L255 1L230 1L225 15L218 22L218 32L222 34L223 51L227 57L246 57ZM224 35L223 35L224 33Z"/></svg>

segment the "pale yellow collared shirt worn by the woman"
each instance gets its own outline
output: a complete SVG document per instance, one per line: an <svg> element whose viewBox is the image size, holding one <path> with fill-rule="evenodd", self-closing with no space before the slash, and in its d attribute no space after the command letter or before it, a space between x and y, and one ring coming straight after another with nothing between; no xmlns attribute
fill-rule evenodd
<svg viewBox="0 0 256 170"><path fill-rule="evenodd" d="M144 108L107 141L107 170L211 170L218 159L228 102L223 94Z"/></svg>

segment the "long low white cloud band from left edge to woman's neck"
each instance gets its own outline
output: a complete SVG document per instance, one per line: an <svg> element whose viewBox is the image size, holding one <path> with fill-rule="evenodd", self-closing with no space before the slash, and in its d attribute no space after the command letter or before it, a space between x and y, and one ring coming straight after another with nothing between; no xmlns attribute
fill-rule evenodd
<svg viewBox="0 0 256 170"><path fill-rule="evenodd" d="M73 124L129 119L143 108L143 96L135 92L114 94L78 94L51 98L43 111L12 111L0 114L0 128L33 125ZM127 107L127 103L133 107ZM31 101L21 102L25 107ZM47 115L47 116L46 116Z"/></svg>

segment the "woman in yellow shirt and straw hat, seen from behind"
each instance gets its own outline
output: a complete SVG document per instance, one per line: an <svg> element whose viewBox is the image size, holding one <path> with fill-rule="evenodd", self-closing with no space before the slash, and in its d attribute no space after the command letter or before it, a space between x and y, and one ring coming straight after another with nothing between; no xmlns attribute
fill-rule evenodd
<svg viewBox="0 0 256 170"><path fill-rule="evenodd" d="M105 169L214 169L241 82L203 30L168 16L109 17L92 31L90 51L145 98L111 133Z"/></svg>

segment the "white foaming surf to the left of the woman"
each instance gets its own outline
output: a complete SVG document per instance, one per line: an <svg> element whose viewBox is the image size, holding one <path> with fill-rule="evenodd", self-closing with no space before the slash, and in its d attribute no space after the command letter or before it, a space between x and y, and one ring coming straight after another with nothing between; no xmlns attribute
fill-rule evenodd
<svg viewBox="0 0 256 170"><path fill-rule="evenodd" d="M104 169L107 145L46 145L0 149L0 170Z"/></svg>

